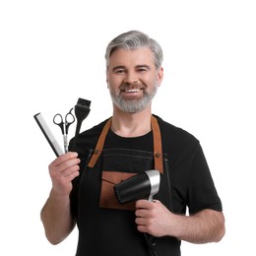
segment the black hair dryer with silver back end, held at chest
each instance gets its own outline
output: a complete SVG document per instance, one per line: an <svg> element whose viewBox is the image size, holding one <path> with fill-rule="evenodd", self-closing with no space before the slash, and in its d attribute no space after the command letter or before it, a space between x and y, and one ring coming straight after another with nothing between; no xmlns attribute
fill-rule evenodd
<svg viewBox="0 0 256 256"><path fill-rule="evenodd" d="M156 169L140 172L114 185L114 193L119 204L139 199L153 201L160 190L160 172Z"/></svg>

